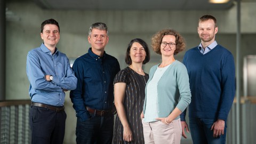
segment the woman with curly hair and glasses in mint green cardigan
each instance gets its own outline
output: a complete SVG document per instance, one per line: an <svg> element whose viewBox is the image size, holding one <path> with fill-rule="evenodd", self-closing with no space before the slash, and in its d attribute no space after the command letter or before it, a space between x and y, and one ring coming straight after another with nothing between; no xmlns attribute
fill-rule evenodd
<svg viewBox="0 0 256 144"><path fill-rule="evenodd" d="M159 31L151 41L162 62L150 69L146 85L141 113L145 143L180 143L180 114L189 105L191 93L187 69L174 55L185 49L185 41L172 29Z"/></svg>

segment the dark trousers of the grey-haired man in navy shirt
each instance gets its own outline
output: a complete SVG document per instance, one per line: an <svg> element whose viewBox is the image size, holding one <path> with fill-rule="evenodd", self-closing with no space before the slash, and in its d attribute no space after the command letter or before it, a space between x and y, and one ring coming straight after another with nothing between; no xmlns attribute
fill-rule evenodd
<svg viewBox="0 0 256 144"><path fill-rule="evenodd" d="M107 144L112 142L114 129L114 115L93 116L86 121L77 118L77 144Z"/></svg>

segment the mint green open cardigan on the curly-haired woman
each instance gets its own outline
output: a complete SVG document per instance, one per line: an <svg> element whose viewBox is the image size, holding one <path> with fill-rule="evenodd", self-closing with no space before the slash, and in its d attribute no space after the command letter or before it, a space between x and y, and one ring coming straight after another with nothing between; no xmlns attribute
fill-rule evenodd
<svg viewBox="0 0 256 144"><path fill-rule="evenodd" d="M153 78L158 65L151 67L149 71L148 83ZM147 102L147 85L146 97L143 105L143 113L145 114ZM184 111L191 101L191 92L189 88L188 71L185 65L175 60L169 68L166 69L163 76L157 84L158 109L159 117L167 117L172 110L177 107L180 111ZM175 119L178 119L178 116Z"/></svg>

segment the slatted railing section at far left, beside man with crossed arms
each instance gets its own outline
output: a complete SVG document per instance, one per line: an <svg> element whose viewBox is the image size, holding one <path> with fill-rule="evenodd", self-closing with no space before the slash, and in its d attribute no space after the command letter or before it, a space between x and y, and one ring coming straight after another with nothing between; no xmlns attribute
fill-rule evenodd
<svg viewBox="0 0 256 144"><path fill-rule="evenodd" d="M30 143L30 103L30 100L0 101L1 144Z"/></svg>

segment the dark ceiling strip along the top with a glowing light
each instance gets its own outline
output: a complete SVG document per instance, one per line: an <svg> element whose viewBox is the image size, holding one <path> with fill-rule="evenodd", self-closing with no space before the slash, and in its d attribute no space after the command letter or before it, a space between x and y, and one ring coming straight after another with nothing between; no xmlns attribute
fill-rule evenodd
<svg viewBox="0 0 256 144"><path fill-rule="evenodd" d="M54 10L225 10L235 0L211 4L208 0L33 0L43 9Z"/></svg>

